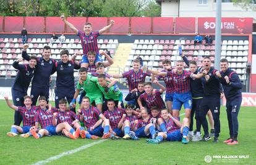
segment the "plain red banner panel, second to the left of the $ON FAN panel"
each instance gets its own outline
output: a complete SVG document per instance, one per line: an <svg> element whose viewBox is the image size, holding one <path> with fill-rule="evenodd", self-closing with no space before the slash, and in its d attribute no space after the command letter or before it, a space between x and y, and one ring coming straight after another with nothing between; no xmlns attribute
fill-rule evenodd
<svg viewBox="0 0 256 165"><path fill-rule="evenodd" d="M153 17L153 33L173 33L173 17Z"/></svg>

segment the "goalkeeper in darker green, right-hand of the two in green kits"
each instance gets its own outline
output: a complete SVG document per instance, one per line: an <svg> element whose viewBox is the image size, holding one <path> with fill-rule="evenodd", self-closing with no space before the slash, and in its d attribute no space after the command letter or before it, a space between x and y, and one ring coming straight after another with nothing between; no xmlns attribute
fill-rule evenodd
<svg viewBox="0 0 256 165"><path fill-rule="evenodd" d="M120 90L115 91L114 87L109 87L109 83L106 82L106 76L103 74L98 75L98 88L104 95L104 104L103 104L103 111L106 111L107 108L107 99L114 99L114 103L121 108L122 103L122 92Z"/></svg>

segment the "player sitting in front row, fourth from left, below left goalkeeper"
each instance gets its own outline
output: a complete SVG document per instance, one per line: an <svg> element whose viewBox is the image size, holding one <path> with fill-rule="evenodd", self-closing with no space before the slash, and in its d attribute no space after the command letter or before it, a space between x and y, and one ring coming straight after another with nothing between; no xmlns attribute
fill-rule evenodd
<svg viewBox="0 0 256 165"><path fill-rule="evenodd" d="M79 114L77 115L77 120L80 120L87 127L88 133L84 130L81 131L82 138L95 138L97 137L109 138L111 133L109 133L109 119L101 114L101 111L94 106L90 106L90 98L84 96L81 104L82 109L78 109ZM98 120L100 119L102 120ZM103 123L102 123L103 121ZM102 124L101 124L102 123Z"/></svg>

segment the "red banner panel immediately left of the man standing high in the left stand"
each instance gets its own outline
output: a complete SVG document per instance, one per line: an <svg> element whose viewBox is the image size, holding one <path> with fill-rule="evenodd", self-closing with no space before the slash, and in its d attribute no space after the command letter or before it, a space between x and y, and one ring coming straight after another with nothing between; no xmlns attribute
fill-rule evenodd
<svg viewBox="0 0 256 165"><path fill-rule="evenodd" d="M23 28L23 17L5 17L4 32L21 32Z"/></svg>

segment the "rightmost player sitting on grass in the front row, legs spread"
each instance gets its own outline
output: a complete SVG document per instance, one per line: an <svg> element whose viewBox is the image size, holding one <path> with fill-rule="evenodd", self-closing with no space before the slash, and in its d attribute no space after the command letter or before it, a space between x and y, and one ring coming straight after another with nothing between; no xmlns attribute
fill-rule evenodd
<svg viewBox="0 0 256 165"><path fill-rule="evenodd" d="M182 140L182 143L187 144L189 142L187 138L187 134L189 133L189 119L185 117L181 123L177 117L169 114L167 109L161 110L161 116L163 119L160 118L158 120L164 124L164 127L161 127L162 132L159 132L155 139L147 139L147 143L158 144L165 139L172 142Z"/></svg>

